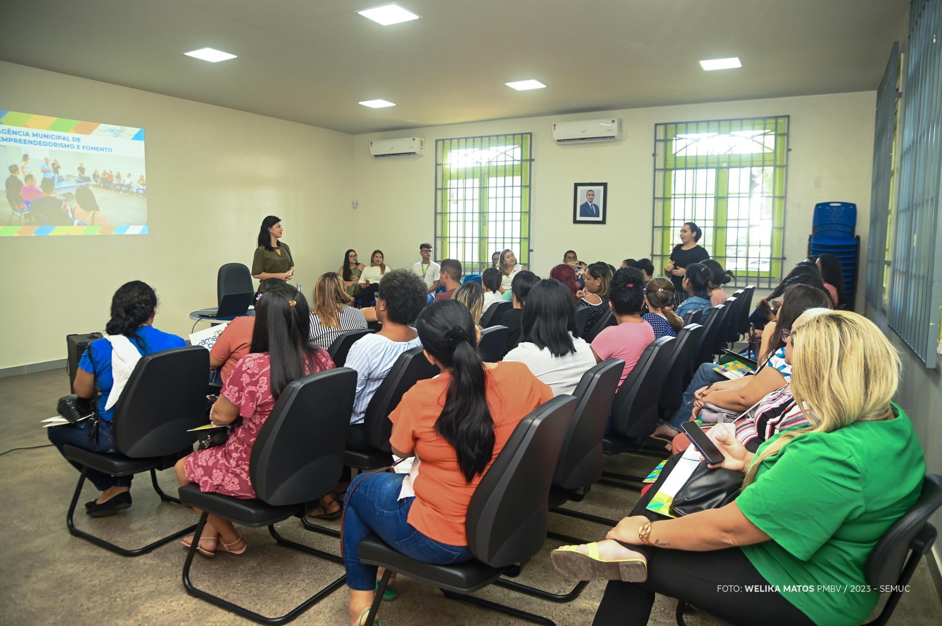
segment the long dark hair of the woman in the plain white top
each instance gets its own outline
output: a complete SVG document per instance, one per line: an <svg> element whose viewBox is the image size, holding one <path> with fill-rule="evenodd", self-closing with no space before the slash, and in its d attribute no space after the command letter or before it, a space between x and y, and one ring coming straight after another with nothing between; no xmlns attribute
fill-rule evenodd
<svg viewBox="0 0 942 626"><path fill-rule="evenodd" d="M521 320L523 341L546 348L554 357L576 352L576 308L569 288L556 279L544 279L530 289ZM569 334L573 333L573 334Z"/></svg>

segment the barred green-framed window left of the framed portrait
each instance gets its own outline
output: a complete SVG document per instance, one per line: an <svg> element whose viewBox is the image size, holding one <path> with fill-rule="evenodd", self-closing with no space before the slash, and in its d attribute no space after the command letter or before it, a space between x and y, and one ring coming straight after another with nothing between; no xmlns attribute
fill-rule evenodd
<svg viewBox="0 0 942 626"><path fill-rule="evenodd" d="M531 133L435 141L436 258L479 274L509 248L528 265L532 145Z"/></svg>

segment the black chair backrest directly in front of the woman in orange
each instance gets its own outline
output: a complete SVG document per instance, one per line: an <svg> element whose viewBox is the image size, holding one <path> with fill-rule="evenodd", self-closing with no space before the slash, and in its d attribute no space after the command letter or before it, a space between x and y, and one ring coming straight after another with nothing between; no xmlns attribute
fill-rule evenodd
<svg viewBox="0 0 942 626"><path fill-rule="evenodd" d="M416 382L438 376L438 373L438 365L432 365L425 358L421 345L400 354L366 405L366 442L377 450L391 452L389 437L393 434L393 423L389 421L389 414L398 407L402 394L412 389ZM349 412L347 415L349 417Z"/></svg>

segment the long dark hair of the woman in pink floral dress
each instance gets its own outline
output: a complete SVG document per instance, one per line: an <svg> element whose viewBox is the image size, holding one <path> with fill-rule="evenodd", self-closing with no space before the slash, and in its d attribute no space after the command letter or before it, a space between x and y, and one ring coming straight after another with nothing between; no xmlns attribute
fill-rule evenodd
<svg viewBox="0 0 942 626"><path fill-rule="evenodd" d="M304 295L279 279L260 287L267 291L255 301L249 351L268 352L271 395L277 398L289 382L315 370L320 348L310 341L311 310Z"/></svg>

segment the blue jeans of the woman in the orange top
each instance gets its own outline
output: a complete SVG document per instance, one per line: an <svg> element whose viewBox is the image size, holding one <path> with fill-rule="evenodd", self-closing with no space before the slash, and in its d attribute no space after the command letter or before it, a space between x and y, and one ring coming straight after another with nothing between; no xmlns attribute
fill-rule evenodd
<svg viewBox="0 0 942 626"><path fill-rule="evenodd" d="M415 498L398 500L405 476L360 474L350 483L344 516L343 551L347 586L351 589L371 591L376 588L377 568L361 563L357 552L360 541L371 532L379 535L398 552L423 563L447 565L474 558L467 546L439 543L406 522Z"/></svg>

